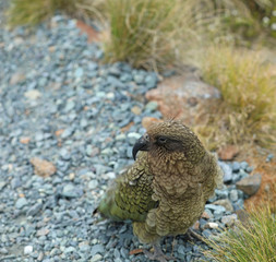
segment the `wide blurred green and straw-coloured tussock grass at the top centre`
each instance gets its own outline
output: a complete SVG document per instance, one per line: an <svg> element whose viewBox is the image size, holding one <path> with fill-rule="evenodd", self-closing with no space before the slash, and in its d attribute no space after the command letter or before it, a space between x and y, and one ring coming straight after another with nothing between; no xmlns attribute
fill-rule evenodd
<svg viewBox="0 0 276 262"><path fill-rule="evenodd" d="M135 68L180 69L199 46L226 31L225 5L208 0L107 0L106 9L106 61Z"/></svg>

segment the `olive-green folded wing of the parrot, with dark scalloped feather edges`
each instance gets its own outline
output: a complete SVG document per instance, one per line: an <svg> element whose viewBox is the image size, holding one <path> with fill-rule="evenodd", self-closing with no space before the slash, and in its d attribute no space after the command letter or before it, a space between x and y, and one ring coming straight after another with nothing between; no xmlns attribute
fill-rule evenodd
<svg viewBox="0 0 276 262"><path fill-rule="evenodd" d="M156 206L152 199L152 181L146 153L143 152L133 166L113 181L97 210L115 221L145 221L147 212Z"/></svg>

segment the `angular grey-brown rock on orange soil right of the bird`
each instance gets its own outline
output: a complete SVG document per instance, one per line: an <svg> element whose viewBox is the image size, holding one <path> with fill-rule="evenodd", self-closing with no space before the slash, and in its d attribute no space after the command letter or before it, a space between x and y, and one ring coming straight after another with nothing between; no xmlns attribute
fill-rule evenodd
<svg viewBox="0 0 276 262"><path fill-rule="evenodd" d="M262 176L255 174L249 177L245 177L236 183L236 187L243 191L249 196L255 194L261 186Z"/></svg>

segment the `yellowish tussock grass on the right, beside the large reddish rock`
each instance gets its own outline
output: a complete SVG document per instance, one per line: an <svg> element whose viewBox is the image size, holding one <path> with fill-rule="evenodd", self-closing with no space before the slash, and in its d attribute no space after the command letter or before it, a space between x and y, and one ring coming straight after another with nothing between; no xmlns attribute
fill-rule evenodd
<svg viewBox="0 0 276 262"><path fill-rule="evenodd" d="M221 92L216 105L197 132L213 147L220 144L276 143L276 69L262 62L262 53L231 47L205 50L203 79Z"/></svg>

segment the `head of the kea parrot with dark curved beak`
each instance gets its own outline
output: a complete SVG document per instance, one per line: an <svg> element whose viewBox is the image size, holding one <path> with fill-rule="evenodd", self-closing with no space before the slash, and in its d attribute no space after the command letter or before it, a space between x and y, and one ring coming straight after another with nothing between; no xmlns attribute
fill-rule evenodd
<svg viewBox="0 0 276 262"><path fill-rule="evenodd" d="M169 120L152 124L133 146L132 155L136 158L139 151L147 151L152 156L163 158L172 153L182 153L187 158L202 155L204 147L197 136L184 124Z"/></svg>

